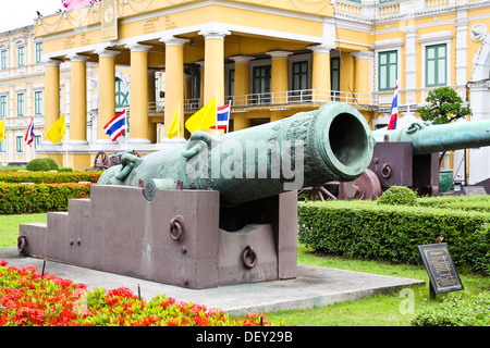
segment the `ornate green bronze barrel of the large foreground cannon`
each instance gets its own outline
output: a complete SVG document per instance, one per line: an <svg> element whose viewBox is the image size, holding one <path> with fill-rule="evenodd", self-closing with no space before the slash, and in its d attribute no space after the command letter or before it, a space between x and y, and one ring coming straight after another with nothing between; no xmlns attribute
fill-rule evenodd
<svg viewBox="0 0 490 348"><path fill-rule="evenodd" d="M256 199L329 181L352 181L368 167L375 140L364 116L353 107L331 102L246 129L210 136L195 132L182 149L166 149L144 158L121 156L99 185L152 189L220 191L220 203L234 207Z"/></svg>

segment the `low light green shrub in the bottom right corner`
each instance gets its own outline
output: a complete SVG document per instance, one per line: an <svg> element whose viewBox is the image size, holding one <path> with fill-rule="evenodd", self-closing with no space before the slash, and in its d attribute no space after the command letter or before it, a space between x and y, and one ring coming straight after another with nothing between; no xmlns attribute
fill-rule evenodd
<svg viewBox="0 0 490 348"><path fill-rule="evenodd" d="M490 326L490 293L444 298L440 306L419 314L414 326Z"/></svg>

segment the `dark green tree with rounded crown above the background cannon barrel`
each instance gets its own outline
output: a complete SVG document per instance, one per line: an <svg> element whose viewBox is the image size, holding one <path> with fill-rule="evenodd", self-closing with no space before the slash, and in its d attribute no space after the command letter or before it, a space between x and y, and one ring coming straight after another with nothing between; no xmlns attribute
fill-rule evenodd
<svg viewBox="0 0 490 348"><path fill-rule="evenodd" d="M424 121L432 124L451 123L457 119L471 115L469 108L463 108L463 99L451 87L440 87L431 90L426 98L429 105L420 107L417 112Z"/></svg>

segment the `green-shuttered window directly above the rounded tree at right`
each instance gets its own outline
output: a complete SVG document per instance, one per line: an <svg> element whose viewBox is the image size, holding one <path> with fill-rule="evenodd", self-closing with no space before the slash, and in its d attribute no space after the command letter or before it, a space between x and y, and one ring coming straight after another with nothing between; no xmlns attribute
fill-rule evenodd
<svg viewBox="0 0 490 348"><path fill-rule="evenodd" d="M426 86L445 86L448 73L446 46L426 47Z"/></svg>

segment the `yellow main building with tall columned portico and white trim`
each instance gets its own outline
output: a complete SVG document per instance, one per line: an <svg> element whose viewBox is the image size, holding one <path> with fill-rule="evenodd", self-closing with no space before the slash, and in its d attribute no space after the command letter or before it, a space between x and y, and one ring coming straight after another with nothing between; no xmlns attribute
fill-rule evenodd
<svg viewBox="0 0 490 348"><path fill-rule="evenodd" d="M175 110L188 117L213 97L231 101L232 130L332 100L375 128L388 123L396 82L401 125L439 86L489 119L487 28L488 1L478 0L102 0L45 15L33 30L44 45L42 126L65 114L69 132L56 146L44 138L37 153L87 169L99 150L172 146ZM121 98L127 144L102 129ZM444 165L457 171L463 152ZM470 183L490 177L488 156L469 151Z"/></svg>

